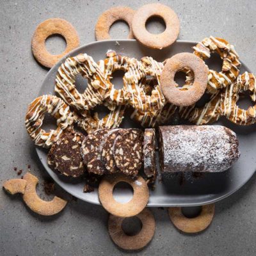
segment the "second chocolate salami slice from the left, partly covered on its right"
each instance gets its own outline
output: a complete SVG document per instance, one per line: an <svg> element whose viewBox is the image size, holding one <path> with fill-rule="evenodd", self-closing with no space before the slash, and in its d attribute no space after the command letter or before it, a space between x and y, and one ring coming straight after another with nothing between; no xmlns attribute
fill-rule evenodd
<svg viewBox="0 0 256 256"><path fill-rule="evenodd" d="M106 168L101 161L101 154L104 137L108 134L108 131L108 129L100 129L91 132L83 140L81 152L83 163L86 165L89 173L102 175L106 172Z"/></svg>

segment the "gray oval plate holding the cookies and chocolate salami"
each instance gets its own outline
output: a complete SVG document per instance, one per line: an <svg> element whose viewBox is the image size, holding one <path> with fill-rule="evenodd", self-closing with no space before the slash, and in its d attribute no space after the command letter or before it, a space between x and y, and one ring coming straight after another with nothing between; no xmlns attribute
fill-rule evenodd
<svg viewBox="0 0 256 256"><path fill-rule="evenodd" d="M170 49L156 51L141 46L136 40L108 40L81 46L70 52L68 56L76 56L79 53L86 52L92 56L95 61L98 61L104 59L106 52L109 49L112 49L116 52L135 58L152 56L157 61L163 61L178 52L192 52L191 47L195 44L196 42L178 41L173 44ZM65 58L67 58L67 56ZM54 94L56 72L65 58L59 61L48 72L44 83L42 84L40 95L49 93ZM211 65L214 65L214 63L211 63ZM244 72L245 70L250 72L243 63L241 72ZM148 206L173 207L211 204L231 195L252 177L256 170L256 125L241 127L228 122L225 118L221 119L220 122L216 124L225 125L237 133L241 151L241 157L237 163L227 172L205 173L202 177L194 177L188 173L185 175L184 179L182 179L180 175L170 175L168 179L163 179L162 182L156 182L156 189L150 191ZM134 123L131 122L129 118L125 118L122 126L132 127L134 126ZM47 165L47 151L36 147L36 152L42 161L45 170L47 170L49 175L51 175L55 182L57 182L63 189L81 200L92 204L100 204L97 189L92 193L83 193L83 182L70 183L63 180L60 176L56 175L56 173L52 172ZM127 198L130 196L131 194L127 189L121 189L121 192L118 195L118 200L121 202L127 201Z"/></svg>

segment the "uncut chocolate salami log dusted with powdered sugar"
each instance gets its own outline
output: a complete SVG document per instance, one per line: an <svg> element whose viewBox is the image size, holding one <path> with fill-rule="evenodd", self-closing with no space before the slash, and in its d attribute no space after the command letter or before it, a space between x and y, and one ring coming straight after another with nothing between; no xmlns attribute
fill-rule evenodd
<svg viewBox="0 0 256 256"><path fill-rule="evenodd" d="M240 156L236 133L220 125L159 127L161 172L223 172Z"/></svg>

